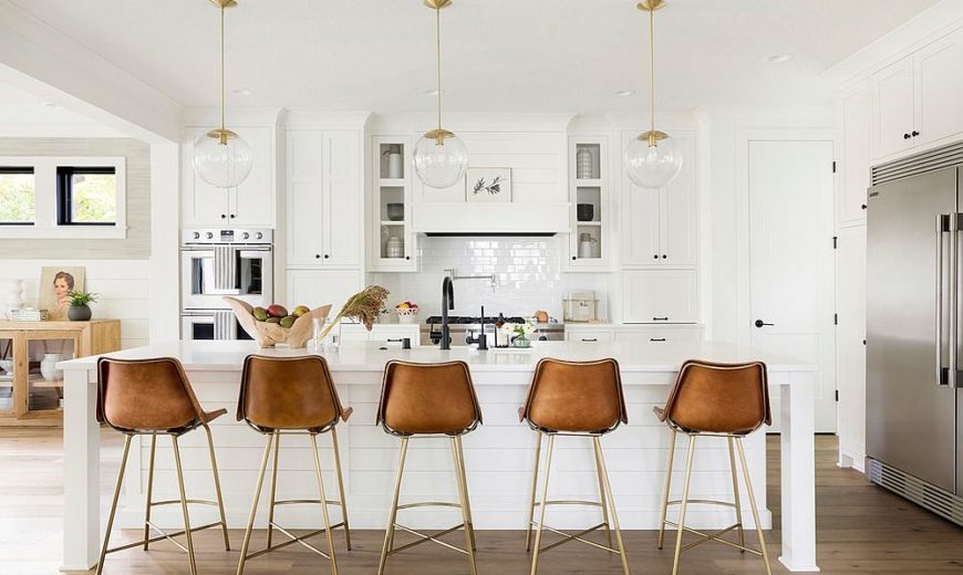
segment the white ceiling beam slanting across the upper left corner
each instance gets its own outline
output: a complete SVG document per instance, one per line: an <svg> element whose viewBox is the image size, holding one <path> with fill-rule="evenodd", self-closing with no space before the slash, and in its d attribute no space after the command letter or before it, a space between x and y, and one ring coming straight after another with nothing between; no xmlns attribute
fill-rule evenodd
<svg viewBox="0 0 963 575"><path fill-rule="evenodd" d="M177 142L180 105L8 0L0 81L148 143Z"/></svg>

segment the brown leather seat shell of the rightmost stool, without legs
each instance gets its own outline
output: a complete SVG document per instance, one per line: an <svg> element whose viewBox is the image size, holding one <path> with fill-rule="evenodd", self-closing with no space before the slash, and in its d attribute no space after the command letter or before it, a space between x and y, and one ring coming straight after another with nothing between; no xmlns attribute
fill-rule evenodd
<svg viewBox="0 0 963 575"><path fill-rule="evenodd" d="M663 417L686 431L746 435L773 422L766 364L682 365Z"/></svg>

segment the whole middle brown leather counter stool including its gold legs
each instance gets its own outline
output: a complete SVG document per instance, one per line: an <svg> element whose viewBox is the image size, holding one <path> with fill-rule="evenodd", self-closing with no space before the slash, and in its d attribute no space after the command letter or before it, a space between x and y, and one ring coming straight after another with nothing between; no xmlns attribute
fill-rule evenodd
<svg viewBox="0 0 963 575"><path fill-rule="evenodd" d="M468 555L472 575L475 568L475 529L472 525L472 506L468 503L468 485L465 474L465 453L462 450L462 436L482 424L482 410L472 385L472 375L465 362L443 364L416 364L391 360L384 368L384 383L381 402L377 408L377 424L384 430L402 440L394 485L394 499L389 513L387 530L377 575L383 575L387 556L413 547L426 541L434 541L445 547ZM405 457L408 440L414 438L445 438L452 442L452 460L458 484L459 503L418 502L398 505L401 484L404 478ZM398 510L421 506L446 506L462 510L462 523L433 535L426 535L397 523ZM448 545L436 537L465 529L465 548ZM401 529L420 539L400 547L394 546L395 529Z"/></svg>

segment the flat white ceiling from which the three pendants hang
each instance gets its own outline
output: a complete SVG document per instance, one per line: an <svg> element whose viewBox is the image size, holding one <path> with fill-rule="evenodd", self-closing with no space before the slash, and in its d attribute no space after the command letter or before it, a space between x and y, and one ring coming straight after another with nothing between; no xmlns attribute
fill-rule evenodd
<svg viewBox="0 0 963 575"><path fill-rule="evenodd" d="M12 0L187 106L217 103L207 0ZM819 74L938 0L669 0L655 17L657 104L812 104ZM434 13L422 0L239 0L229 105L427 112ZM635 0L454 0L442 13L445 108L633 112L648 102ZM772 64L766 56L795 55ZM630 97L614 92L632 90ZM0 94L2 97L2 94ZM2 101L0 101L2 102Z"/></svg>

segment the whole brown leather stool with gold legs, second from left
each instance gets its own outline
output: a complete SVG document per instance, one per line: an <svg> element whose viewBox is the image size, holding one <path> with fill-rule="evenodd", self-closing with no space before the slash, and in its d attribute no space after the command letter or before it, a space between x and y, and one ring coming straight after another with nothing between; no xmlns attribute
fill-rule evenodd
<svg viewBox="0 0 963 575"><path fill-rule="evenodd" d="M251 514L248 520L245 541L241 546L241 556L238 562L237 573L241 575L245 563L253 557L271 551L287 547L293 543L300 543L322 557L331 561L331 573L338 575L338 561L334 557L334 540L331 530L344 527L344 543L351 551L351 532L348 525L348 505L344 499L344 480L341 474L341 454L338 450L338 431L334 429L339 421L348 421L351 417L351 408L341 407L338 399L338 390L334 380L328 369L328 362L319 356L302 357L267 357L249 355L245 358L244 373L241 374L240 397L237 402L237 419L244 420L255 431L267 436L265 457L261 460L261 471L258 474L255 499L251 503ZM318 454L318 436L331 432L331 443L334 448L334 471L338 477L338 491L340 499L332 501L324 494L324 481L321 479L321 459ZM307 435L311 440L311 451L314 456L314 474L318 479L319 499L277 500L278 487L278 453L280 451L281 436ZM265 474L268 470L268 459L271 454L271 445L275 448L273 472L271 477L271 504L268 518L268 545L263 550L248 554L251 542L251 531L258 512L258 501L261 499L261 488L265 483ZM275 508L277 505L290 505L312 503L321 505L321 516L324 520L324 529L312 531L307 535L294 536L284 527L275 523ZM328 505L341 508L341 522L332 525L328 515ZM271 534L278 530L289 537L278 545L271 545ZM307 539L324 533L328 540L328 553L308 543Z"/></svg>

